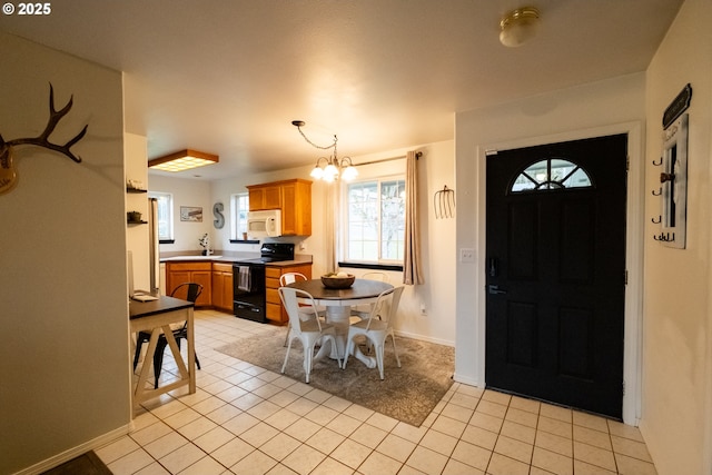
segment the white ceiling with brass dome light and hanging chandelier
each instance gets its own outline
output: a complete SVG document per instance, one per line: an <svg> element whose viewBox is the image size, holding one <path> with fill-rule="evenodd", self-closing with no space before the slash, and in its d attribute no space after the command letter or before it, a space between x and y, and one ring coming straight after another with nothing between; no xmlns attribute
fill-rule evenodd
<svg viewBox="0 0 712 475"><path fill-rule="evenodd" d="M454 113L646 69L683 0L53 0L0 30L126 72L126 130L225 178L454 138ZM498 42L531 4L540 34ZM51 79L51 78L50 78ZM81 91L71 91L81 100Z"/></svg>

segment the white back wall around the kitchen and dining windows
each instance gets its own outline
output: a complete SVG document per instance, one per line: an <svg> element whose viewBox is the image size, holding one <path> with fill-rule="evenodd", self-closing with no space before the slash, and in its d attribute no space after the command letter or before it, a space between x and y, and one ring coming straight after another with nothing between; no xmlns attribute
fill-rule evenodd
<svg viewBox="0 0 712 475"><path fill-rule="evenodd" d="M379 154L353 157L355 164L363 164L376 160L383 160L393 157L405 157L407 150L423 151L423 158L418 160L421 174L421 219L422 219L422 239L423 239L423 261L426 283L422 286L407 286L400 300L398 311L398 321L396 324L397 331L400 335L414 338L426 339L444 345L454 345L455 342L455 219L435 219L433 210L433 195L444 185L454 188L454 142L444 141L437 144L428 144L422 146L413 146L408 148L388 150ZM359 174L367 176L369 172L383 171L383 167L393 169L398 162L387 162L378 166L359 167ZM400 162L400 172L405 172L405 161ZM204 226L176 228L176 245L168 247L161 245L161 251L167 250L189 250L194 249L192 240L195 238L197 246L197 232L209 231L212 236L216 249L227 251L259 253L258 245L230 244L229 243L229 206L230 195L244 192L247 185L257 185L261 182L277 181L291 178L309 178L312 167L299 167L285 169L275 172L258 174L239 178L227 178L217 180L211 184L189 180L174 179L157 175L149 175L149 187L156 191L174 192L177 199L182 199L187 204L204 202L209 216ZM364 175L365 174L365 175ZM209 188L209 190L208 190ZM206 194L206 195L204 195ZM313 275L318 276L325 274L326 256L325 256L325 200L327 194L327 185L322 181L315 181L312 185L312 236L309 237L286 237L279 238L285 241L295 243L297 254L310 254L313 256ZM186 196L191 196L186 201ZM215 229L212 226L211 209L212 204L222 202L225 205L225 217L228 219L221 230ZM198 231L198 228L200 229ZM300 249L300 246L304 249ZM187 246L187 247L186 247ZM191 247L192 246L192 247ZM367 271L364 269L349 269L353 274L359 276ZM394 284L402 283L402 273L389 273L390 281ZM425 305L426 315L421 315L421 304Z"/></svg>

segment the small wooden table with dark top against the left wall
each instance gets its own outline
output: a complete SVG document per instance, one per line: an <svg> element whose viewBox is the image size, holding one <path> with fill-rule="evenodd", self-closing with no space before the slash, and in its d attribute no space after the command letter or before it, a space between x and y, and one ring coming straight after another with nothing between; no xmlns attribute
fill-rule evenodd
<svg viewBox="0 0 712 475"><path fill-rule="evenodd" d="M171 324L188 321L187 326L187 362L184 360L178 343L174 337ZM196 350L195 350L195 329L194 329L194 304L188 300L181 300L165 295L156 296L152 300L138 301L131 299L129 301L129 324L131 333L148 331L151 338L148 343L146 357L138 377L138 384L131 392L132 407L135 410L139 408L139 404L154 398L160 394L168 393L182 386L188 386L188 393L196 392ZM176 366L178 367L179 378L165 386L155 389L147 388L147 379L150 375L154 360L154 353L158 344L160 335L166 335L168 347L170 348Z"/></svg>

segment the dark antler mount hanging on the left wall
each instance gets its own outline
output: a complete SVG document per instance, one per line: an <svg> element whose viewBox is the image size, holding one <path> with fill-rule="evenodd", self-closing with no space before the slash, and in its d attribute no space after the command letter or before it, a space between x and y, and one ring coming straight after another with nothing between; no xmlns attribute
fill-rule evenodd
<svg viewBox="0 0 712 475"><path fill-rule="evenodd" d="M88 125L79 133L77 133L71 140L65 145L52 144L49 141L49 136L55 131L55 128L59 121L65 117L73 103L73 96L69 98L69 102L60 110L55 109L55 89L50 82L49 85L49 120L47 127L37 137L23 137L6 141L0 135L0 195L10 191L18 182L18 171L13 162L13 147L20 145L33 145L42 147L49 150L58 151L77 164L81 162L81 158L76 156L70 149L87 133Z"/></svg>

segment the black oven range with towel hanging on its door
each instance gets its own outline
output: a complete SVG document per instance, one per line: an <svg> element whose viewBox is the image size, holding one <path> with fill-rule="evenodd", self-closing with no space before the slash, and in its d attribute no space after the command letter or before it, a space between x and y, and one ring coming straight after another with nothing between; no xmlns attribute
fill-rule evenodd
<svg viewBox="0 0 712 475"><path fill-rule="evenodd" d="M280 260L294 260L294 244L265 243L260 257L237 260L233 264L233 309L235 316L267 323L265 265Z"/></svg>

